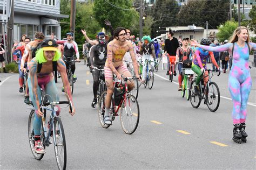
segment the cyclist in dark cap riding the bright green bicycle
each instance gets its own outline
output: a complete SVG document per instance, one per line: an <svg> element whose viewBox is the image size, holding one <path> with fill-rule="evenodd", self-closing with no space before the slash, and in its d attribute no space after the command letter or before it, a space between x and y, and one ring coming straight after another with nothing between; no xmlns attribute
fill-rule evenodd
<svg viewBox="0 0 256 170"><path fill-rule="evenodd" d="M189 42L189 38L183 38L182 40L182 46L177 48L177 52L176 52L176 60L175 60L175 65L177 64L177 62L183 62L184 60L189 60L190 58L192 58L193 55L193 51L192 49L188 46L188 42ZM179 70L179 89L178 91L181 91L181 83L182 83L182 70L181 68L183 68L183 63L179 63L178 64L178 70Z"/></svg>

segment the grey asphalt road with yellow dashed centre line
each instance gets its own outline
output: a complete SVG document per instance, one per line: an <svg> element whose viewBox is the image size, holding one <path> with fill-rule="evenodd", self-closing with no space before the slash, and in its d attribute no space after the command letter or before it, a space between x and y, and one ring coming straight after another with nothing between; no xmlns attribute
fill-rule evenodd
<svg viewBox="0 0 256 170"><path fill-rule="evenodd" d="M256 168L255 68L251 69L248 141L239 145L232 141L228 74L213 78L225 98L221 98L216 112L210 112L204 104L193 109L190 102L181 98L177 84L160 77L166 77L165 70L159 70L152 90L139 89L140 122L137 131L128 135L123 132L119 119L109 129L100 126L97 109L91 108L92 76L83 63L76 66L78 81L73 100L77 112L71 117L67 109L62 109L61 114L68 152L67 169ZM30 110L18 93L18 75L4 82L6 77L2 75L0 169L56 169L53 146L46 148L41 161L33 158L27 134ZM60 91L62 83L57 86Z"/></svg>

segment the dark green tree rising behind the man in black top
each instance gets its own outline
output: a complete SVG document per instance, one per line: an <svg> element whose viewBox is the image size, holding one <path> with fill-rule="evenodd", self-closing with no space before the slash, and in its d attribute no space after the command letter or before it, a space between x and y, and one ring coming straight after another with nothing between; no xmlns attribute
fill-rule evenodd
<svg viewBox="0 0 256 170"><path fill-rule="evenodd" d="M159 36L159 33L157 33L159 27L178 26L177 15L179 10L180 7L174 0L157 0L151 9L146 11L146 14L151 15L154 21L151 27L151 37Z"/></svg>

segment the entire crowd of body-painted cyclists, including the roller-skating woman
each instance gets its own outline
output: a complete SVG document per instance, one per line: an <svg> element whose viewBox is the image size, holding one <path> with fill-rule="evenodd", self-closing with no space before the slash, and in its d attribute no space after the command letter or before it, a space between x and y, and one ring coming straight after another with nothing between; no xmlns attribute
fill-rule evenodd
<svg viewBox="0 0 256 170"><path fill-rule="evenodd" d="M86 39L83 45L83 56L86 65L93 68L104 68L105 82L107 87L107 95L105 98L105 117L104 123L111 125L110 119L110 105L113 94L113 74L117 79L122 79L121 75L131 77L129 69L134 70L134 76L142 83L145 80L146 67L143 65L143 72L139 75L138 60L151 61L150 69L154 70L156 63L160 62L161 56L167 56L167 70L170 68L170 59L175 58L174 65L177 65L179 71L178 90L181 90L183 62L191 61L191 68L197 76L195 93L198 93L198 84L203 77L204 82L207 82L208 72L204 72L207 68L207 62L212 62L212 68L220 71L220 68L226 73L228 65L230 67L230 74L228 78L228 87L233 100L233 140L241 140L246 138L245 122L246 122L246 106L250 94L252 79L250 76L250 69L248 65L249 52L256 50L256 44L250 42L248 29L246 27L238 27L233 37L219 43L218 40L209 40L202 38L200 43L196 40L183 38L178 40L174 37L174 32L169 30L167 39L159 40L157 38L151 39L150 36L144 36L141 40L135 39L129 29L124 27L117 27L113 30L110 22L105 21L105 24L110 27L111 36L107 36L105 32L98 32L96 39L91 40L87 37L86 31L82 33ZM4 72L4 48L0 44L0 61ZM52 34L51 39L45 40L42 32L35 33L35 39L31 41L26 35L22 35L21 41L15 44L12 52L17 56L15 60L19 63L19 92L24 95L24 103L33 104L35 108L35 122L33 125L35 131L35 151L39 154L45 153L44 147L40 141L41 117L43 115L40 110L41 93L40 89L44 88L46 94L55 98L57 94L57 87L54 81L52 72L58 71L63 82L63 91L68 94L72 102L71 115L75 114L75 107L72 101L70 84L66 75L69 63L67 60L80 61L78 47L73 41L73 32L66 33L66 39L54 39ZM132 65L127 65L127 62L132 62ZM228 62L232 61L232 62ZM77 80L75 76L75 62L72 63L71 72L74 75L74 81ZM23 89L24 73L29 70L29 78L26 82L28 89ZM167 71L166 75L170 73ZM176 75L176 70L174 76ZM99 87L99 71L93 70L93 100L91 107L95 108L97 104L97 90ZM134 87L134 82L127 83L129 91ZM58 100L58 98L57 98ZM31 101L31 102L30 102ZM58 111L59 114L59 111Z"/></svg>

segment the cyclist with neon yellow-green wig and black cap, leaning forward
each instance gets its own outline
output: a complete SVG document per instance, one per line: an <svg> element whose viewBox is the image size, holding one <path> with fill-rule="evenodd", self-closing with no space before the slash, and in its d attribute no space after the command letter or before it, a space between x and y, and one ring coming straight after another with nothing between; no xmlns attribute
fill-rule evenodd
<svg viewBox="0 0 256 170"><path fill-rule="evenodd" d="M43 112L40 110L41 105L41 88L44 88L45 93L50 95L48 98L51 100L58 100L56 95L58 90L55 84L55 80L52 74L53 70L58 70L64 85L65 92L70 98L70 102L73 105L72 95L70 90L70 85L68 77L66 75L65 63L60 59L60 52L57 49L57 44L55 40L46 40L42 43L42 48L38 49L36 57L33 58L29 65L29 94L35 108L35 119L33 123L33 131L35 133L35 147L34 150L38 154L44 154L45 150L41 143L41 122ZM58 106L57 115L59 115L60 108ZM71 116L75 114L75 108L72 109Z"/></svg>

